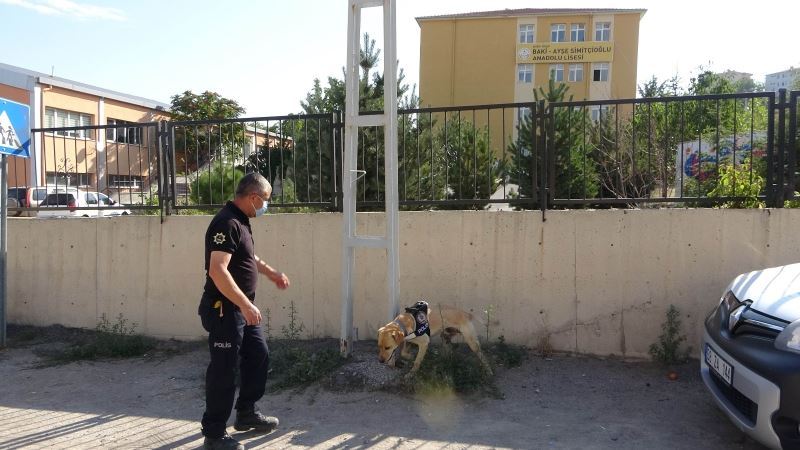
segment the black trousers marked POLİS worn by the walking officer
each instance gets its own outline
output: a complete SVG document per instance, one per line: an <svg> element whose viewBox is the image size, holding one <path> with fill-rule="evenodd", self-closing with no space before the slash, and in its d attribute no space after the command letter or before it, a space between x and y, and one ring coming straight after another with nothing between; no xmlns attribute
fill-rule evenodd
<svg viewBox="0 0 800 450"><path fill-rule="evenodd" d="M203 299L206 300L206 299ZM236 394L236 367L241 386L236 410L249 412L264 395L269 370L269 348L259 325L247 325L233 303L222 301L220 310L202 301L200 319L208 331L211 362L206 370L206 411L203 435L218 438L225 434Z"/></svg>

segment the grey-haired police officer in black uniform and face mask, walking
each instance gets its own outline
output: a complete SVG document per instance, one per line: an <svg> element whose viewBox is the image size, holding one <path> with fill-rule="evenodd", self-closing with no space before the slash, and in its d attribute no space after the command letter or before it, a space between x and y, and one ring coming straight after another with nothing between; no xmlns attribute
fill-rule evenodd
<svg viewBox="0 0 800 450"><path fill-rule="evenodd" d="M253 252L250 219L267 211L271 195L272 186L263 176L245 175L234 200L214 216L206 231L206 284L198 312L211 352L202 420L207 449L244 449L226 432L234 406L237 364L241 384L233 427L269 433L278 426L278 419L262 415L255 406L264 395L269 368L269 350L259 325L261 311L253 303L258 274L279 289L289 287L284 273Z"/></svg>

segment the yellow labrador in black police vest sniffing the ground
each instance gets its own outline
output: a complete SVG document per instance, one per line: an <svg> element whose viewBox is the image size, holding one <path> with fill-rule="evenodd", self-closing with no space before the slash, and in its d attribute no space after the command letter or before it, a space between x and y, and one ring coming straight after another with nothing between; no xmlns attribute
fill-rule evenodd
<svg viewBox="0 0 800 450"><path fill-rule="evenodd" d="M472 324L472 314L449 306L428 305L426 302L417 302L414 306L406 308L405 312L378 330L378 360L394 367L398 347L402 347L403 358L410 358L411 354L405 344L415 344L418 347L417 357L406 375L411 377L419 370L425 358L431 336L441 335L443 340L449 342L457 334L464 337L469 348L478 355L484 368L491 373L489 362L478 343L478 335Z"/></svg>

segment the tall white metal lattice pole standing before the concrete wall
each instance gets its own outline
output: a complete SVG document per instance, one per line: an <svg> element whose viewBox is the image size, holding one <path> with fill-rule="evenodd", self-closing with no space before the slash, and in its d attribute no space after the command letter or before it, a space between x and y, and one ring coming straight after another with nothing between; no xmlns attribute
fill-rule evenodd
<svg viewBox="0 0 800 450"><path fill-rule="evenodd" d="M359 114L359 60L361 53L361 10L383 7L383 114ZM387 256L388 318L398 311L399 292L399 213L397 188L397 17L395 0L348 0L347 65L345 71L344 161L342 166L343 226L342 226L342 328L339 341L343 356L353 350L353 277L355 250L382 248ZM384 127L386 232L384 236L356 234L356 189L359 178L356 166L359 127Z"/></svg>

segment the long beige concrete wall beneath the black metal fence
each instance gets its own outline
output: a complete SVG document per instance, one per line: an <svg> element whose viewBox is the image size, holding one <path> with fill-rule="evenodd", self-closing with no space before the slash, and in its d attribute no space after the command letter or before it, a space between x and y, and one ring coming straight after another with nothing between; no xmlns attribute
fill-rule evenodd
<svg viewBox="0 0 800 450"><path fill-rule="evenodd" d="M670 303L695 344L738 273L796 262L798 210L408 212L400 216L401 304L419 298L472 311L490 305L492 338L558 350L646 356ZM208 216L9 220L9 321L92 328L120 313L160 337L203 335L196 315ZM361 234L383 215L359 215ZM264 280L257 304L280 335L294 301L313 336L339 335L341 216L253 221L256 252L292 287ZM361 339L387 320L385 255L359 250ZM479 326L481 333L485 328Z"/></svg>

